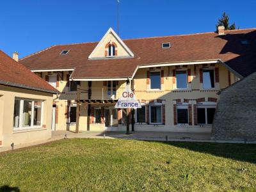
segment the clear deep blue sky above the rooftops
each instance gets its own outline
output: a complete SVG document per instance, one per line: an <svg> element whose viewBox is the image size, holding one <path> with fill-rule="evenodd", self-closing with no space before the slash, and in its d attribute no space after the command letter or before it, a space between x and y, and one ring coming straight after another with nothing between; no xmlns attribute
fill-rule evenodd
<svg viewBox="0 0 256 192"><path fill-rule="evenodd" d="M20 58L56 44L95 42L117 31L117 0L0 1L0 49ZM256 1L120 0L121 38L214 31L225 11L239 28L256 28Z"/></svg>

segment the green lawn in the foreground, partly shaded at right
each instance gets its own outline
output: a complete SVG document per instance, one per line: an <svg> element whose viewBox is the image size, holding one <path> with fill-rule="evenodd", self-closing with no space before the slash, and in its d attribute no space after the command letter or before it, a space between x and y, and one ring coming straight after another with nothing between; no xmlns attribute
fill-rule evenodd
<svg viewBox="0 0 256 192"><path fill-rule="evenodd" d="M60 140L0 154L0 186L0 191L256 191L256 145Z"/></svg>

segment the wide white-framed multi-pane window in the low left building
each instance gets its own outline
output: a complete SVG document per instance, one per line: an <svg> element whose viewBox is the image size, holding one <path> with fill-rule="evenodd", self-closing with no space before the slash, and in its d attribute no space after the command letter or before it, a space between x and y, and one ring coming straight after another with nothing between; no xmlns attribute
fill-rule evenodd
<svg viewBox="0 0 256 192"><path fill-rule="evenodd" d="M13 129L42 127L43 102L38 100L15 99Z"/></svg>

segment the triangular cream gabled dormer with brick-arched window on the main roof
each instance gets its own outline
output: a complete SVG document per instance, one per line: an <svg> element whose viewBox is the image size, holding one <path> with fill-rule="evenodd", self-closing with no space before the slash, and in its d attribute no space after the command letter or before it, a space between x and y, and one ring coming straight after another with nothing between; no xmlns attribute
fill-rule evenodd
<svg viewBox="0 0 256 192"><path fill-rule="evenodd" d="M124 44L121 38L112 28L100 40L99 44L93 49L88 57L90 60L102 60L113 58L133 58L131 49Z"/></svg>

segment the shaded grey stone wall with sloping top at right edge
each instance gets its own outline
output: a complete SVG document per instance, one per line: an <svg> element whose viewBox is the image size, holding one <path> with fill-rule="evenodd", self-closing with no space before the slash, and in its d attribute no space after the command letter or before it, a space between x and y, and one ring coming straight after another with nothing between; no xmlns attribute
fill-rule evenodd
<svg viewBox="0 0 256 192"><path fill-rule="evenodd" d="M220 94L212 140L256 140L256 72Z"/></svg>

